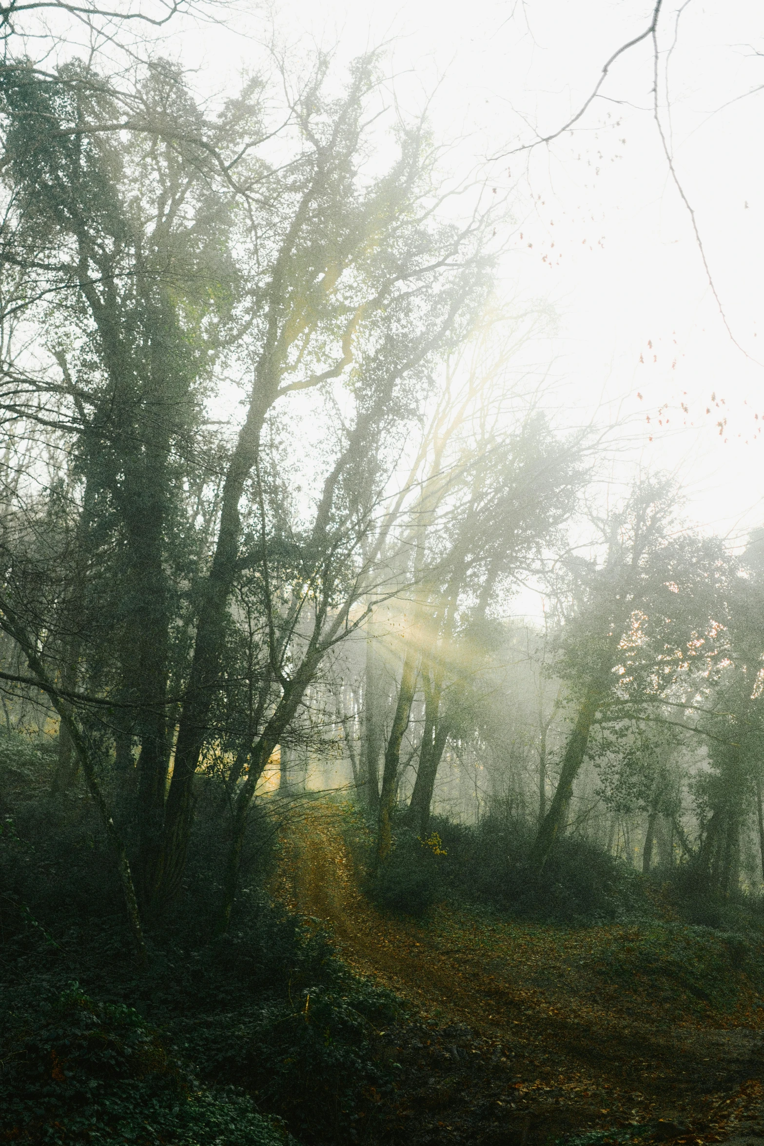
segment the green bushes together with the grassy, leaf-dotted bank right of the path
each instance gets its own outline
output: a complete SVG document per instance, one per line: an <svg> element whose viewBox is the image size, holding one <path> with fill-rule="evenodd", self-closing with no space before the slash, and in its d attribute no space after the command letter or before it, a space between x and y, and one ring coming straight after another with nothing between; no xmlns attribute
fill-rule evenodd
<svg viewBox="0 0 764 1146"><path fill-rule="evenodd" d="M346 837L356 861L370 864L373 832L346 809ZM449 901L457 917L481 921L486 935L514 920L523 959L538 974L573 974L572 987L597 997L602 988L660 1021L703 1019L738 1008L758 1019L764 1005L764 927L756 902L707 902L700 912L692 880L645 879L581 841L561 846L539 880L522 865L527 840L496 823L479 829L433 818L422 840L397 823L389 861L367 879L385 910L426 920ZM687 894L687 888L690 893ZM696 915L714 926L694 923ZM502 932L497 933L497 939ZM490 945L491 941L487 941ZM528 961L529 960L529 961Z"/></svg>

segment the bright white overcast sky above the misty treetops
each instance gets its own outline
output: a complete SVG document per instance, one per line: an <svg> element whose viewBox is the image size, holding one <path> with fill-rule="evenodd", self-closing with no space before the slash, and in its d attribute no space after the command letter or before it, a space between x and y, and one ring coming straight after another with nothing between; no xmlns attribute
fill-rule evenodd
<svg viewBox="0 0 764 1146"><path fill-rule="evenodd" d="M733 541L764 523L764 7L664 0L659 24L662 123L728 330L661 150L648 40L613 64L573 134L515 150L565 124L651 13L640 0L231 3L227 28L174 24L163 50L220 88L258 66L271 22L285 41L339 45L339 61L389 41L397 97L418 107L435 92L455 162L503 156L514 221L502 281L557 311L557 335L528 360L550 368L560 418L623 424L627 455L677 469L690 516Z"/></svg>

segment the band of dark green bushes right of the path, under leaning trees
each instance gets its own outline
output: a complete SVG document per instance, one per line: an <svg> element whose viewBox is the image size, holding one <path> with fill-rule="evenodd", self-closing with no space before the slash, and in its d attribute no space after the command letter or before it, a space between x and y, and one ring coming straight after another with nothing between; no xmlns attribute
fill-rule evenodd
<svg viewBox="0 0 764 1146"><path fill-rule="evenodd" d="M526 863L531 825L488 817L472 826L433 816L420 839L399 816L389 858L372 871L373 825L348 806L344 816L346 839L368 873L367 894L396 913L423 918L450 901L562 926L663 920L756 940L764 935L759 901L742 894L714 898L696 887L687 866L645 877L586 840L562 837L535 873Z"/></svg>

